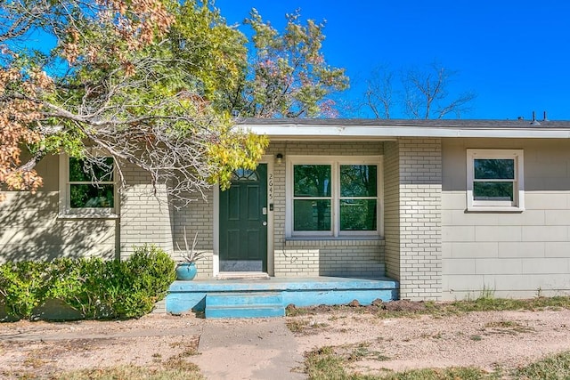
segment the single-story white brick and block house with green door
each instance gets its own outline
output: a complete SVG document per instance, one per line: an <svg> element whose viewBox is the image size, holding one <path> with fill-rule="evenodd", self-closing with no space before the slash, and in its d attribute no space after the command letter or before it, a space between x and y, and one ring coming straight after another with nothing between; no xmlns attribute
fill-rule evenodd
<svg viewBox="0 0 570 380"><path fill-rule="evenodd" d="M0 258L125 257L143 243L177 256L185 228L209 252L199 279L387 278L411 300L570 294L570 122L238 126L270 138L257 170L180 210L133 167L120 196L110 179L89 205L71 194L88 185L73 161L45 158L42 190L0 204Z"/></svg>

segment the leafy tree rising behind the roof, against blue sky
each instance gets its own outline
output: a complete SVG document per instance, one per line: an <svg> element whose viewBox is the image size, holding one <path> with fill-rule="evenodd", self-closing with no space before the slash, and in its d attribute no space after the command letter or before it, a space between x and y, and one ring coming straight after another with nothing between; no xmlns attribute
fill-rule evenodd
<svg viewBox="0 0 570 380"><path fill-rule="evenodd" d="M286 15L282 34L254 9L245 20L254 48L240 82L227 93L226 108L243 117L336 117L330 94L346 90L345 69L330 67L322 54L324 23Z"/></svg>

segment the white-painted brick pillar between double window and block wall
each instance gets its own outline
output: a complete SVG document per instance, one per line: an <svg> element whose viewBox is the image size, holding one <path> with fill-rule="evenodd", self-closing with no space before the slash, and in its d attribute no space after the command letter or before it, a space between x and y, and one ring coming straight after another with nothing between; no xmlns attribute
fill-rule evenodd
<svg viewBox="0 0 570 380"><path fill-rule="evenodd" d="M384 169L388 274L400 280L400 298L438 300L442 296L441 140L403 138L395 144L386 143Z"/></svg>

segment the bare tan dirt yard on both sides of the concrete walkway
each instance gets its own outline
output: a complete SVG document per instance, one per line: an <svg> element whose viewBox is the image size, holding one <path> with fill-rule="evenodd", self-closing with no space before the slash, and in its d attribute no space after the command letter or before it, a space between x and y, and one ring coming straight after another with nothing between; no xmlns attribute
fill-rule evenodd
<svg viewBox="0 0 570 380"><path fill-rule="evenodd" d="M517 368L570 350L568 310L380 319L366 308L354 307L281 320L293 331L298 352L332 346L362 373L379 368ZM202 329L213 323L220 322L159 314L125 321L0 323L0 378L118 364L156 366L197 350ZM258 319L224 321L236 329L256 323ZM192 358L199 355L188 357Z"/></svg>

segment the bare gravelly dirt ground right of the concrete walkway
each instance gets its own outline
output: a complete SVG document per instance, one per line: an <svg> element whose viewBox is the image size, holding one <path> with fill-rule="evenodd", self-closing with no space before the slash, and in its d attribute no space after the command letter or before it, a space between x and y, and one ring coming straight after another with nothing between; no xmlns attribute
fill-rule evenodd
<svg viewBox="0 0 570 380"><path fill-rule="evenodd" d="M302 321L302 322L299 322ZM328 311L297 317L297 344L344 353L355 371L473 366L517 368L570 350L570 311L485 311L379 319Z"/></svg>

